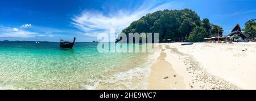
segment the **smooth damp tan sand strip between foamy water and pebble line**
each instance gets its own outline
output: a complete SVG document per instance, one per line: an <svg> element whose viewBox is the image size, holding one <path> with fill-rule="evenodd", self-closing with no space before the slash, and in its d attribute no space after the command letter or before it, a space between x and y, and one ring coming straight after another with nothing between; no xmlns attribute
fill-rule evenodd
<svg viewBox="0 0 256 101"><path fill-rule="evenodd" d="M166 50L162 49L156 63L151 67L148 89L185 89L183 77L177 74L172 65L166 61L167 55L164 51Z"/></svg>

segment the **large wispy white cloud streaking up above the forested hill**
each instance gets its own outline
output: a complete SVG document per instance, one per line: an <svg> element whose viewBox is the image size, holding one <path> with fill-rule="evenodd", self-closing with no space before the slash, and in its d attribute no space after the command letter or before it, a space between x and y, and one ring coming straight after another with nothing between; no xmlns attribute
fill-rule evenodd
<svg viewBox="0 0 256 101"><path fill-rule="evenodd" d="M145 1L135 10L117 10L107 15L98 11L83 11L79 16L75 16L72 24L84 32L86 36L97 37L99 33L110 33L110 28L115 28L116 33L120 33L124 28L129 27L133 22L142 16L158 10L179 8L176 2Z"/></svg>

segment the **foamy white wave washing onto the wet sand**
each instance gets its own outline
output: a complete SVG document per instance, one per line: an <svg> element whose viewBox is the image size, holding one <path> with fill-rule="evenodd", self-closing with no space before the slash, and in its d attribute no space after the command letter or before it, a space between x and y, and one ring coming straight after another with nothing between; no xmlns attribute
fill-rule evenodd
<svg viewBox="0 0 256 101"><path fill-rule="evenodd" d="M142 67L130 69L126 72L102 76L101 79L89 80L91 85L82 86L84 89L147 89L147 80L151 72L151 65L157 60L160 51L148 55L147 63Z"/></svg>

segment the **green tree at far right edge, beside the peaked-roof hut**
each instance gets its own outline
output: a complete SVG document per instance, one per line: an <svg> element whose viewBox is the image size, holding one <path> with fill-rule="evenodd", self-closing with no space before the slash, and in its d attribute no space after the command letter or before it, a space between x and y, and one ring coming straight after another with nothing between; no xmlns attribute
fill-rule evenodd
<svg viewBox="0 0 256 101"><path fill-rule="evenodd" d="M250 39L254 39L256 35L256 19L249 20L245 23L245 29L243 31L245 32L246 36L249 37Z"/></svg>

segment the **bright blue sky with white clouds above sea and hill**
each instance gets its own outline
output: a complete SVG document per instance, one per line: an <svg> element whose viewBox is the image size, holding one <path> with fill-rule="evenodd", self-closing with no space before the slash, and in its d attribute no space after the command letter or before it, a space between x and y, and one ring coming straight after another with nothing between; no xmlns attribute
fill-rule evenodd
<svg viewBox="0 0 256 101"><path fill-rule="evenodd" d="M0 1L0 41L97 41L100 33L115 33L158 10L189 8L201 19L224 28L256 19L255 0L8 0Z"/></svg>

